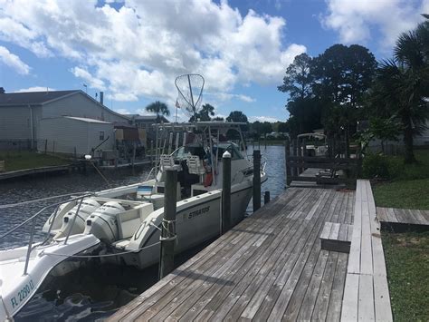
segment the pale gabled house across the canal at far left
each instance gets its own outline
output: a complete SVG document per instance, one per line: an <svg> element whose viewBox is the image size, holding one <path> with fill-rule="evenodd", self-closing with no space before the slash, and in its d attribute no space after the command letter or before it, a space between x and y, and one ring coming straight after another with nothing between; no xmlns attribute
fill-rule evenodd
<svg viewBox="0 0 429 322"><path fill-rule="evenodd" d="M68 132L69 135L79 135L81 127L78 124L81 122L93 126L94 131L101 124L82 120L71 121L73 119L63 118L65 116L109 123L129 122L128 117L104 106L102 99L103 93L100 93L98 102L82 91L0 93L0 141L3 142L0 149L4 148L6 143L15 141L28 141L29 148L33 149L40 147L42 142L46 144L46 140L62 138L62 131ZM53 120L47 121L48 119ZM46 129L42 131L42 127L51 126L54 120L71 128L56 127L56 132ZM107 126L105 127L107 129ZM114 137L113 127L109 126L109 129L111 132L106 132L106 137ZM71 148L74 149L74 146Z"/></svg>

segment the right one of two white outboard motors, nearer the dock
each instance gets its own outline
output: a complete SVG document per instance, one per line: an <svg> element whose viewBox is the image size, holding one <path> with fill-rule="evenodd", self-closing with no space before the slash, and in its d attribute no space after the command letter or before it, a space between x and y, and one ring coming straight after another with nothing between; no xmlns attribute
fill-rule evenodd
<svg viewBox="0 0 429 322"><path fill-rule="evenodd" d="M118 240L116 215L125 209L116 201L109 201L86 220L85 234L92 234L105 243Z"/></svg>

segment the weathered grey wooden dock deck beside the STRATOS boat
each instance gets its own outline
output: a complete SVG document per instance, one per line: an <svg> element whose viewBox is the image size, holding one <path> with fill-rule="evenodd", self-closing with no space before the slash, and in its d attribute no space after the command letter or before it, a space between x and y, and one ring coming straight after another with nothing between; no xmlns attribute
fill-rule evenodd
<svg viewBox="0 0 429 322"><path fill-rule="evenodd" d="M338 321L348 254L319 235L352 224L354 207L354 191L288 189L110 320Z"/></svg>

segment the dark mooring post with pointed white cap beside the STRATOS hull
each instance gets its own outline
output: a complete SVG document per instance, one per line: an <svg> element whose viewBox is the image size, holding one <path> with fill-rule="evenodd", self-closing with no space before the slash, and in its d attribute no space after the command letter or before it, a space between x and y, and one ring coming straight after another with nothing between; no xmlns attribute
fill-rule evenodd
<svg viewBox="0 0 429 322"><path fill-rule="evenodd" d="M222 155L222 234L231 228L231 153Z"/></svg>

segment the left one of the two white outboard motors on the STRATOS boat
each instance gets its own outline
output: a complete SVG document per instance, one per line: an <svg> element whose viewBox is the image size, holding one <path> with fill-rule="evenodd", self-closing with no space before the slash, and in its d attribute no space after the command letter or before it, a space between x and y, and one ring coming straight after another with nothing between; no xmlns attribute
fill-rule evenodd
<svg viewBox="0 0 429 322"><path fill-rule="evenodd" d="M85 220L91 215L92 212L100 207L100 203L91 198L82 200L81 209L77 214L73 227L71 227L71 224L73 223L73 217L76 216L76 211L79 208L79 203L80 201L77 202L76 206L74 206L72 210L64 215L62 218L62 228L53 237L53 239L59 239L67 236L70 229L71 235L81 234L85 230Z"/></svg>

